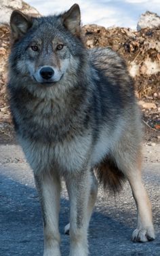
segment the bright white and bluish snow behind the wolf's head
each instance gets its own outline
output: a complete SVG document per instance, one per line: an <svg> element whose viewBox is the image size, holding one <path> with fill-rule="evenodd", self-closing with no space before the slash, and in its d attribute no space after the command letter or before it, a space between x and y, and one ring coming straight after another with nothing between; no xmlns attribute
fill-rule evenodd
<svg viewBox="0 0 160 256"><path fill-rule="evenodd" d="M160 14L159 0L27 0L43 15L67 10L74 3L81 7L83 24L100 26L125 26L136 29L140 15L146 11Z"/></svg>

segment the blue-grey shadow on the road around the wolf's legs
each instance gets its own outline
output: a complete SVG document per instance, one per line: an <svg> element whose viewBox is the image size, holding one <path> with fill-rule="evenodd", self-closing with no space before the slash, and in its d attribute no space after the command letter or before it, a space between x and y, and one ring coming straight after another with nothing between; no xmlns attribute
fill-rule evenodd
<svg viewBox="0 0 160 256"><path fill-rule="evenodd" d="M35 187L14 181L8 175L0 175L0 191L0 255L43 255L43 225ZM115 208L110 207L108 205L113 205L113 198L108 198L105 206L104 197L100 194L89 225L90 255L159 256L159 234L153 242L131 242L130 237L136 225L136 211L129 198L123 198L122 201L124 199L126 202L117 209L119 202ZM62 194L60 208L62 256L68 255L69 251L69 237L64 235L68 219L69 203L65 192Z"/></svg>

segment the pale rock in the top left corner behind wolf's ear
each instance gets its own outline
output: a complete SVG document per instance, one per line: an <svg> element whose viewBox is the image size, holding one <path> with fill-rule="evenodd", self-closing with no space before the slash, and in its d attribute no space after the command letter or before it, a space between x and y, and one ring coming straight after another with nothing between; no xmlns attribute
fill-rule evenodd
<svg viewBox="0 0 160 256"><path fill-rule="evenodd" d="M22 0L1 0L0 5L0 24L9 24L10 16L13 10L20 10L26 14L39 16L39 12L34 8L24 3Z"/></svg>

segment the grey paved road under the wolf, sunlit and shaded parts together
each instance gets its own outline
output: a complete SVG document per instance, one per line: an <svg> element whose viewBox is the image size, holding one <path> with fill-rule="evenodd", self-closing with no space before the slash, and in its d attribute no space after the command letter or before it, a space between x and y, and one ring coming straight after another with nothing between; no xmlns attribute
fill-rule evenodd
<svg viewBox="0 0 160 256"><path fill-rule="evenodd" d="M136 227L136 206L129 185L116 197L100 190L89 226L92 256L160 256L160 147L147 145L144 149L144 183L153 203L157 239L146 244L130 241ZM61 251L66 256L69 237L63 230L69 203L65 187L61 198ZM0 146L0 255L43 255L41 210L33 174L16 145Z"/></svg>

